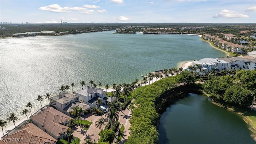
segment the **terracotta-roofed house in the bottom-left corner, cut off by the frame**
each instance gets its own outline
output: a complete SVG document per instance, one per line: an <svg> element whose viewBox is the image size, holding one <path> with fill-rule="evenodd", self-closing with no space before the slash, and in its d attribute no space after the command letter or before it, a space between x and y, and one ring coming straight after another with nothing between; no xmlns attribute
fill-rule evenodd
<svg viewBox="0 0 256 144"><path fill-rule="evenodd" d="M0 140L0 144L56 144L57 140L33 123L22 122Z"/></svg>

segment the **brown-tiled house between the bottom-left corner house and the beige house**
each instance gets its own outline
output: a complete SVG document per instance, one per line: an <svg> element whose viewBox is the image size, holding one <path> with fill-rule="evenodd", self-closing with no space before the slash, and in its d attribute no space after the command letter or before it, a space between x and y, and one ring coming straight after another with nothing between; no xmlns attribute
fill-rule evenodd
<svg viewBox="0 0 256 144"><path fill-rule="evenodd" d="M56 140L58 138L64 139L67 137L65 132L67 131L68 121L70 116L52 108L48 107L35 115L30 117L30 121L41 128L44 132L50 134Z"/></svg>

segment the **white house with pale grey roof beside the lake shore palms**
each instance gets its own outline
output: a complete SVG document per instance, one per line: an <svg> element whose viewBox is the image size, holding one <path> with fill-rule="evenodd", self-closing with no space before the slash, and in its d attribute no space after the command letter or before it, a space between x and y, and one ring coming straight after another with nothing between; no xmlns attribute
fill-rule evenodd
<svg viewBox="0 0 256 144"><path fill-rule="evenodd" d="M108 98L106 97L106 91L101 88L95 87L84 87L82 90L77 90L74 94L79 96L79 101L90 105L92 108L98 108L100 104L97 102L98 99L102 100L102 104L106 104Z"/></svg>

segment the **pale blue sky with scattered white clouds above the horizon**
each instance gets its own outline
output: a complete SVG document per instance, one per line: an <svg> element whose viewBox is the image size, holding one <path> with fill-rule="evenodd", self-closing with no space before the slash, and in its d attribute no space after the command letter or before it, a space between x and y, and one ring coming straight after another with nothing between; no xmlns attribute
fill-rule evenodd
<svg viewBox="0 0 256 144"><path fill-rule="evenodd" d="M0 22L256 23L256 0L0 0Z"/></svg>

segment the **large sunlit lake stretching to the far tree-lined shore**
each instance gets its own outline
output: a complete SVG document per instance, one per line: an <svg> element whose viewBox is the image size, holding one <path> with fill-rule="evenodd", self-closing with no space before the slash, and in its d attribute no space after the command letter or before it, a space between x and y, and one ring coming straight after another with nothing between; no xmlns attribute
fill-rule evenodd
<svg viewBox="0 0 256 144"><path fill-rule="evenodd" d="M201 58L219 58L224 52L198 36L113 34L113 31L66 36L0 39L0 119L10 112L20 118L28 101L46 92L58 94L61 85L90 80L103 86L130 83L141 75L177 67ZM42 104L47 104L44 100ZM22 116L24 117L24 116Z"/></svg>

